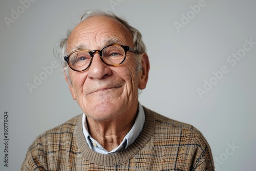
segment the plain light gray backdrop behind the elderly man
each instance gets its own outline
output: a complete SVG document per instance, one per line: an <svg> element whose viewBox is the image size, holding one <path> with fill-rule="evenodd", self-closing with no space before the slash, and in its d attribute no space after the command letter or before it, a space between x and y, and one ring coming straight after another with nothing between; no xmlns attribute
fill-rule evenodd
<svg viewBox="0 0 256 171"><path fill-rule="evenodd" d="M190 6L202 0L173 1L35 1L0 2L1 132L0 170L19 170L37 135L81 113L71 97L53 47L87 9L124 16L143 35L151 70L140 102L162 115L193 124L209 142L217 170L253 170L256 158L256 45L232 66L227 61L246 43L256 42L256 2L205 0L200 12ZM12 9L20 14L9 23ZM189 23L176 29L182 14ZM248 48L249 46L247 46ZM57 61L44 75L42 67ZM200 97L204 80L226 66L228 73ZM29 91L35 76L45 80ZM3 118L9 112L9 167L4 167ZM236 146L229 148L229 145ZM228 152L228 153L227 153ZM232 154L230 154L232 153ZM217 159L219 158L219 159Z"/></svg>

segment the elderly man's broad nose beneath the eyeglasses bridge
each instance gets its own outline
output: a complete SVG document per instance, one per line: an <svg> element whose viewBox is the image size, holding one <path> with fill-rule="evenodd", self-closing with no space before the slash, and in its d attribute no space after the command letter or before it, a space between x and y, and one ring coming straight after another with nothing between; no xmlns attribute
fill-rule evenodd
<svg viewBox="0 0 256 171"><path fill-rule="evenodd" d="M96 51L92 58L91 66L89 67L88 77L90 79L103 79L111 75L111 68L102 62L99 52Z"/></svg>

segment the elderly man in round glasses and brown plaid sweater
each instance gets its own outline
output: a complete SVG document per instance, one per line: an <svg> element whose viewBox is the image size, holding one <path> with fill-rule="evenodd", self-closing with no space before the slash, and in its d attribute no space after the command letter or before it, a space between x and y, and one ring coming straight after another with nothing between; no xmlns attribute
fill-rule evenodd
<svg viewBox="0 0 256 171"><path fill-rule="evenodd" d="M214 170L195 127L139 103L150 63L140 32L125 20L88 11L59 57L83 114L38 136L22 170Z"/></svg>

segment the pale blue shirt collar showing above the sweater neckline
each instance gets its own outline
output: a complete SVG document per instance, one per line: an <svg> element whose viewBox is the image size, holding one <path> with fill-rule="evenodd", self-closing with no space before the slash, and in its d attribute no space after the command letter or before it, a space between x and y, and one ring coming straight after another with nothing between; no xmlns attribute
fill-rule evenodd
<svg viewBox="0 0 256 171"><path fill-rule="evenodd" d="M94 152L97 152L100 154L111 154L111 153L120 152L123 149L126 149L129 145L131 145L135 141L135 139L139 136L140 132L143 129L143 125L145 122L145 114L144 114L144 110L143 110L140 102L138 103L138 109L139 109L139 112L138 112L137 118L135 120L135 123L134 123L132 129L129 131L129 133L127 133L125 135L125 137L123 138L123 141L119 144L119 146L114 148L111 152L108 152L96 140L94 140L91 137L91 135L88 132L86 115L83 114L82 115L82 131L83 131L83 135L86 138L86 142L88 143L89 147Z"/></svg>

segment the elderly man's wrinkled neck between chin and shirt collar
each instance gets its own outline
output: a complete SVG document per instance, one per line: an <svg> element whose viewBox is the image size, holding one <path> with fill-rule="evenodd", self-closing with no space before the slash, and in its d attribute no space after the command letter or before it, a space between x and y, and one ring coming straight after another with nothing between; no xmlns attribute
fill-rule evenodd
<svg viewBox="0 0 256 171"><path fill-rule="evenodd" d="M137 109L138 104L134 110L129 110L129 112L107 121L97 121L87 117L88 132L93 139L110 152L122 142L125 135L131 130L137 116Z"/></svg>

